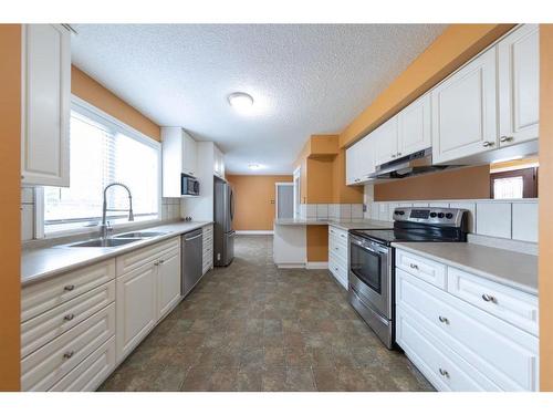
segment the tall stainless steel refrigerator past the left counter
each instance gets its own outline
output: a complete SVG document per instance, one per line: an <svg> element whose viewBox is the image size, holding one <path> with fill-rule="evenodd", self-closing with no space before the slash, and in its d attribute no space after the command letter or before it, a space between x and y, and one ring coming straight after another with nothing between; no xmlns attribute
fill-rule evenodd
<svg viewBox="0 0 553 415"><path fill-rule="evenodd" d="M234 259L234 197L226 180L216 177L213 186L213 264L227 267Z"/></svg>

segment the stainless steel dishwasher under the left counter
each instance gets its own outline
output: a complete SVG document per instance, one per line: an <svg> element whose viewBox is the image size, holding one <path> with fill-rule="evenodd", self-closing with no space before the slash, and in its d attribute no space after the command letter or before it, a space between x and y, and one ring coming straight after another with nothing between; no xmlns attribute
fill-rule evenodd
<svg viewBox="0 0 553 415"><path fill-rule="evenodd" d="M188 294L201 279L202 266L202 237L201 229L182 235L182 276L180 292Z"/></svg>

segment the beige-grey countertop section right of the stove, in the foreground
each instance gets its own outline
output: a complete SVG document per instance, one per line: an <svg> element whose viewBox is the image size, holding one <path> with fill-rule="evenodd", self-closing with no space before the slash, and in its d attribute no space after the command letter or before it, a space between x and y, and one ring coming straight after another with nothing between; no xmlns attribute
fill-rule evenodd
<svg viewBox="0 0 553 415"><path fill-rule="evenodd" d="M538 257L468 242L393 242L397 249L538 295Z"/></svg>

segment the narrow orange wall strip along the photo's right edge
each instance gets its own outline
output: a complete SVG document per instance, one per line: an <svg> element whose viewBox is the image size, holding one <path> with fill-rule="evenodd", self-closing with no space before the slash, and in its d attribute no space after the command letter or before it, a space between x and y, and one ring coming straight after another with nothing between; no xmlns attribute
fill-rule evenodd
<svg viewBox="0 0 553 415"><path fill-rule="evenodd" d="M553 391L553 24L540 24L540 387Z"/></svg>

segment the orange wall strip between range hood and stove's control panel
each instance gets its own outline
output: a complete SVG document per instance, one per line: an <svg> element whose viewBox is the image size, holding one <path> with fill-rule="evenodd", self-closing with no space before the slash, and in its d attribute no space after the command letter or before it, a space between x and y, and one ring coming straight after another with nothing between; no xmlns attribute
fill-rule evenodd
<svg viewBox="0 0 553 415"><path fill-rule="evenodd" d="M375 185L375 201L489 198L490 166L488 165Z"/></svg>

